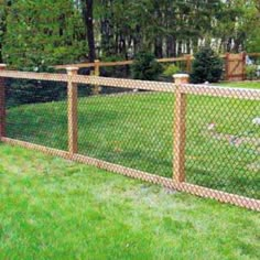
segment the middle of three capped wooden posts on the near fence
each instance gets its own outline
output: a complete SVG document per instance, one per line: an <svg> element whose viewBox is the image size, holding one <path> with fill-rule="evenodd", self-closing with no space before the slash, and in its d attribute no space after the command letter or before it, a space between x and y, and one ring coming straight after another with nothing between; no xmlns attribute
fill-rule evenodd
<svg viewBox="0 0 260 260"><path fill-rule="evenodd" d="M68 67L69 76L77 75L77 67ZM67 117L68 117L68 152L71 155L78 152L77 126L77 84L68 79L67 84Z"/></svg>

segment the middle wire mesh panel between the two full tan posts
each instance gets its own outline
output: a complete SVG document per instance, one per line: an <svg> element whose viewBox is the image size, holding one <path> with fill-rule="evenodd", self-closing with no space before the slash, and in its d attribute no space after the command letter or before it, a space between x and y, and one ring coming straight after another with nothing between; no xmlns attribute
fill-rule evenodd
<svg viewBox="0 0 260 260"><path fill-rule="evenodd" d="M87 88L78 99L79 153L171 177L173 94Z"/></svg>

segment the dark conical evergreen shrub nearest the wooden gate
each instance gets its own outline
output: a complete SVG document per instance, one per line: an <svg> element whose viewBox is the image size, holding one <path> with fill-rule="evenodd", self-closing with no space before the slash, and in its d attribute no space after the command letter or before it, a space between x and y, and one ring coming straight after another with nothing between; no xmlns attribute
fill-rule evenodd
<svg viewBox="0 0 260 260"><path fill-rule="evenodd" d="M196 55L192 66L192 83L217 83L221 78L223 61L209 47L203 47Z"/></svg>

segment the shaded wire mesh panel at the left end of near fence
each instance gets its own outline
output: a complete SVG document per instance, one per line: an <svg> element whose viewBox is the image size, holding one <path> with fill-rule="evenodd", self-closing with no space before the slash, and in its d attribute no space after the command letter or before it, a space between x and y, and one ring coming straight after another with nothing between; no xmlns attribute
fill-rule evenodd
<svg viewBox="0 0 260 260"><path fill-rule="evenodd" d="M67 149L67 84L8 78L7 137Z"/></svg>

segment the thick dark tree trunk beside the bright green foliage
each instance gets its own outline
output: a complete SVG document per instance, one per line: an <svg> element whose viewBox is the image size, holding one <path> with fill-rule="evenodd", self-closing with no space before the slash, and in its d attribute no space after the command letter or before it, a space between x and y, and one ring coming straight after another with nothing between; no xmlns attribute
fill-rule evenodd
<svg viewBox="0 0 260 260"><path fill-rule="evenodd" d="M87 30L88 41L88 59L93 63L96 58L95 50L95 35L94 35L94 23L93 23L93 0L83 0L83 15L84 22Z"/></svg>

